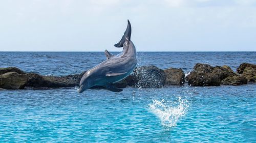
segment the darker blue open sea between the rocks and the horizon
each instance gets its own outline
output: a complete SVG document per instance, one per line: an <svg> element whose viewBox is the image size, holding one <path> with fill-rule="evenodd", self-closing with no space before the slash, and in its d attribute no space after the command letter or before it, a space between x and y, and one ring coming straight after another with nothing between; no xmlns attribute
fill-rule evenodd
<svg viewBox="0 0 256 143"><path fill-rule="evenodd" d="M14 66L42 75L81 73L105 59L104 52L0 52L1 67ZM256 52L138 52L138 66L182 68L184 72L191 71L196 63L228 65L236 71L241 63L255 61Z"/></svg>

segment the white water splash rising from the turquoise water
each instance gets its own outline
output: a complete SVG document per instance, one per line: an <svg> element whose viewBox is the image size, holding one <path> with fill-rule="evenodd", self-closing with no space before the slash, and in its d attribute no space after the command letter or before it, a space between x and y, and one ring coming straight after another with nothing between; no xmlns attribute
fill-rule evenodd
<svg viewBox="0 0 256 143"><path fill-rule="evenodd" d="M149 106L151 111L161 120L162 125L174 127L178 120L186 115L189 103L179 97L177 102L153 100L153 103Z"/></svg>

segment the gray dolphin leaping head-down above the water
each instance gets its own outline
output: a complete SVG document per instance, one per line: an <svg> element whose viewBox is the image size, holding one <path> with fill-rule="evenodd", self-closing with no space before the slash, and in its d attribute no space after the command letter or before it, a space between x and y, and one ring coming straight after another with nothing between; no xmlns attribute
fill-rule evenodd
<svg viewBox="0 0 256 143"><path fill-rule="evenodd" d="M105 50L106 61L88 70L81 78L78 93L95 85L102 86L113 92L121 92L113 83L130 75L137 65L136 48L131 41L132 27L128 20L126 31L116 47L123 47L122 52L112 55Z"/></svg>

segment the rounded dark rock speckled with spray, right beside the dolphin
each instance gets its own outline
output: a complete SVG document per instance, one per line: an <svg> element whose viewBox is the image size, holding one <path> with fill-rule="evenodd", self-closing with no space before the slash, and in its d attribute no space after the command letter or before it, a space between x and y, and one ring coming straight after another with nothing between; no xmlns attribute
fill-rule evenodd
<svg viewBox="0 0 256 143"><path fill-rule="evenodd" d="M165 74L156 66L142 66L136 68L125 80L128 85L139 88L160 88L164 86Z"/></svg>

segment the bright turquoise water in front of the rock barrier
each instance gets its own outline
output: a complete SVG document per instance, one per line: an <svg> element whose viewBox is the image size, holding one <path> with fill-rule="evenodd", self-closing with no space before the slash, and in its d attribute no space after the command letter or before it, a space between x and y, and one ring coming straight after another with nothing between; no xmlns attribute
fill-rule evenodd
<svg viewBox="0 0 256 143"><path fill-rule="evenodd" d="M1 142L254 142L255 85L0 93Z"/></svg>

